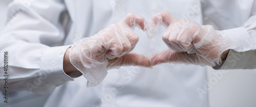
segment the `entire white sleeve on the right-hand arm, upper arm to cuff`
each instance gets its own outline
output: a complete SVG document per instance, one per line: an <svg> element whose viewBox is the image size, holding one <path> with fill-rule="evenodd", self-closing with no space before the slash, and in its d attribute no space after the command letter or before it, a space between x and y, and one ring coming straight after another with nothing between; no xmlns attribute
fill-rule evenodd
<svg viewBox="0 0 256 107"><path fill-rule="evenodd" d="M229 52L222 65L214 69L256 69L256 2L205 1L203 13L223 30L237 48Z"/></svg>

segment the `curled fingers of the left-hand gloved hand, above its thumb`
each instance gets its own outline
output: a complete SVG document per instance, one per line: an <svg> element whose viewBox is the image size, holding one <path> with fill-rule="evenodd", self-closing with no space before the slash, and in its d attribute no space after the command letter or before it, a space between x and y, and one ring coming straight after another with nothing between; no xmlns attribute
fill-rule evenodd
<svg viewBox="0 0 256 107"><path fill-rule="evenodd" d="M107 30L110 35L105 35L105 47L108 49L106 57L113 59L130 52L137 44L139 36L129 27L113 24Z"/></svg>

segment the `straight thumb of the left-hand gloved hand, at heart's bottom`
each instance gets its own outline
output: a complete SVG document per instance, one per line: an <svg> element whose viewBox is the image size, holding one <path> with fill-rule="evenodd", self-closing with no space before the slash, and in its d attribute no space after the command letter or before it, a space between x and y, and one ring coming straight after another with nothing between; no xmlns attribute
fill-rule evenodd
<svg viewBox="0 0 256 107"><path fill-rule="evenodd" d="M108 67L140 66L150 67L150 60L141 54L127 53L119 58L109 59Z"/></svg>

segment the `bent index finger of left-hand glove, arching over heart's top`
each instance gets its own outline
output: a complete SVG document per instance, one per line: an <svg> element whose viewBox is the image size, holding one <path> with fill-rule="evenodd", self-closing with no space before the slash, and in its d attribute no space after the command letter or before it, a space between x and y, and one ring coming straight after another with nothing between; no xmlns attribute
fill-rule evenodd
<svg viewBox="0 0 256 107"><path fill-rule="evenodd" d="M130 28L134 29L134 27L138 27L139 29L145 30L147 26L146 19L138 14L127 14L123 19L122 22L128 25Z"/></svg>

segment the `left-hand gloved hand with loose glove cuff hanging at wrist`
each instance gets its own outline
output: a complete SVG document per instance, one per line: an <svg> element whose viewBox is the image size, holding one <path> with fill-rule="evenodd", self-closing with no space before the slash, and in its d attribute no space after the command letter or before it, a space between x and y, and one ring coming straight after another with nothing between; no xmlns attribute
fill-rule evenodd
<svg viewBox="0 0 256 107"><path fill-rule="evenodd" d="M98 85L109 69L120 66L150 67L150 60L146 56L129 53L139 40L133 31L135 26L144 30L147 26L145 18L128 14L121 22L72 45L70 61L88 79L87 87Z"/></svg>

